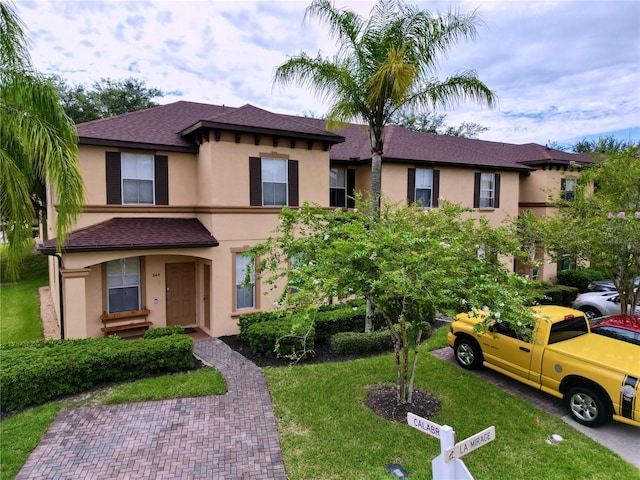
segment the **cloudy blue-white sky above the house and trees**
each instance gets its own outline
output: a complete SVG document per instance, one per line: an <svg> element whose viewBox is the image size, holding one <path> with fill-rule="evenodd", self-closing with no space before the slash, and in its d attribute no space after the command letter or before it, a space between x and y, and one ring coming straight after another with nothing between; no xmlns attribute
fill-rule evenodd
<svg viewBox="0 0 640 480"><path fill-rule="evenodd" d="M3 0L4 1L4 0ZM313 91L274 85L291 56L336 44L310 0L14 0L33 65L67 84L136 78L164 96L272 112L322 116ZM375 2L336 0L367 17ZM479 138L573 145L613 135L640 141L640 1L460 0L406 3L483 20L477 38L441 58L437 77L464 70L497 94L494 109L461 103L447 125L475 122Z"/></svg>

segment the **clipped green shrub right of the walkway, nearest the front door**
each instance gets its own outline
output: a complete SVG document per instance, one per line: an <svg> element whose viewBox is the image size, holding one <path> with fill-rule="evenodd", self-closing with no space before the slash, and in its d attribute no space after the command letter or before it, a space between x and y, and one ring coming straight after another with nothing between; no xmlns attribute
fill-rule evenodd
<svg viewBox="0 0 640 480"><path fill-rule="evenodd" d="M291 356L313 351L315 329L313 322L292 315L277 320L254 323L247 329L247 343L258 357Z"/></svg>

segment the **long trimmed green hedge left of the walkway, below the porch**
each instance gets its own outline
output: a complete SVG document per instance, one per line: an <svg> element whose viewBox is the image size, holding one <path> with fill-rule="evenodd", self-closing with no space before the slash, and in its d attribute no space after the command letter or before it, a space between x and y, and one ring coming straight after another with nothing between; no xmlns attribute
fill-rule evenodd
<svg viewBox="0 0 640 480"><path fill-rule="evenodd" d="M103 382L193 368L193 339L170 335L136 341L117 337L41 340L2 348L3 412L81 393Z"/></svg>

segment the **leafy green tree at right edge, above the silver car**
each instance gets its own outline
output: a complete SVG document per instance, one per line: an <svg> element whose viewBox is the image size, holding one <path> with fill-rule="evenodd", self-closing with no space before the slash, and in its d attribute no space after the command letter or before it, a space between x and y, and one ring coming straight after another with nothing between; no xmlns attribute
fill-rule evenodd
<svg viewBox="0 0 640 480"><path fill-rule="evenodd" d="M580 167L574 198L559 202L556 216L541 219L544 248L557 260L565 255L590 262L611 278L622 313L640 301L640 145L594 157Z"/></svg>

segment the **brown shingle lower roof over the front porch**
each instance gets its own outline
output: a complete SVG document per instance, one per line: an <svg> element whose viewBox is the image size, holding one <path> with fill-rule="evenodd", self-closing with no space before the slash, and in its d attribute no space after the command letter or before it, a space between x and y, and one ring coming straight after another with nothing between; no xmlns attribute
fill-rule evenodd
<svg viewBox="0 0 640 480"><path fill-rule="evenodd" d="M197 218L112 218L71 232L63 252L216 247L218 241ZM56 252L56 240L39 250Z"/></svg>

